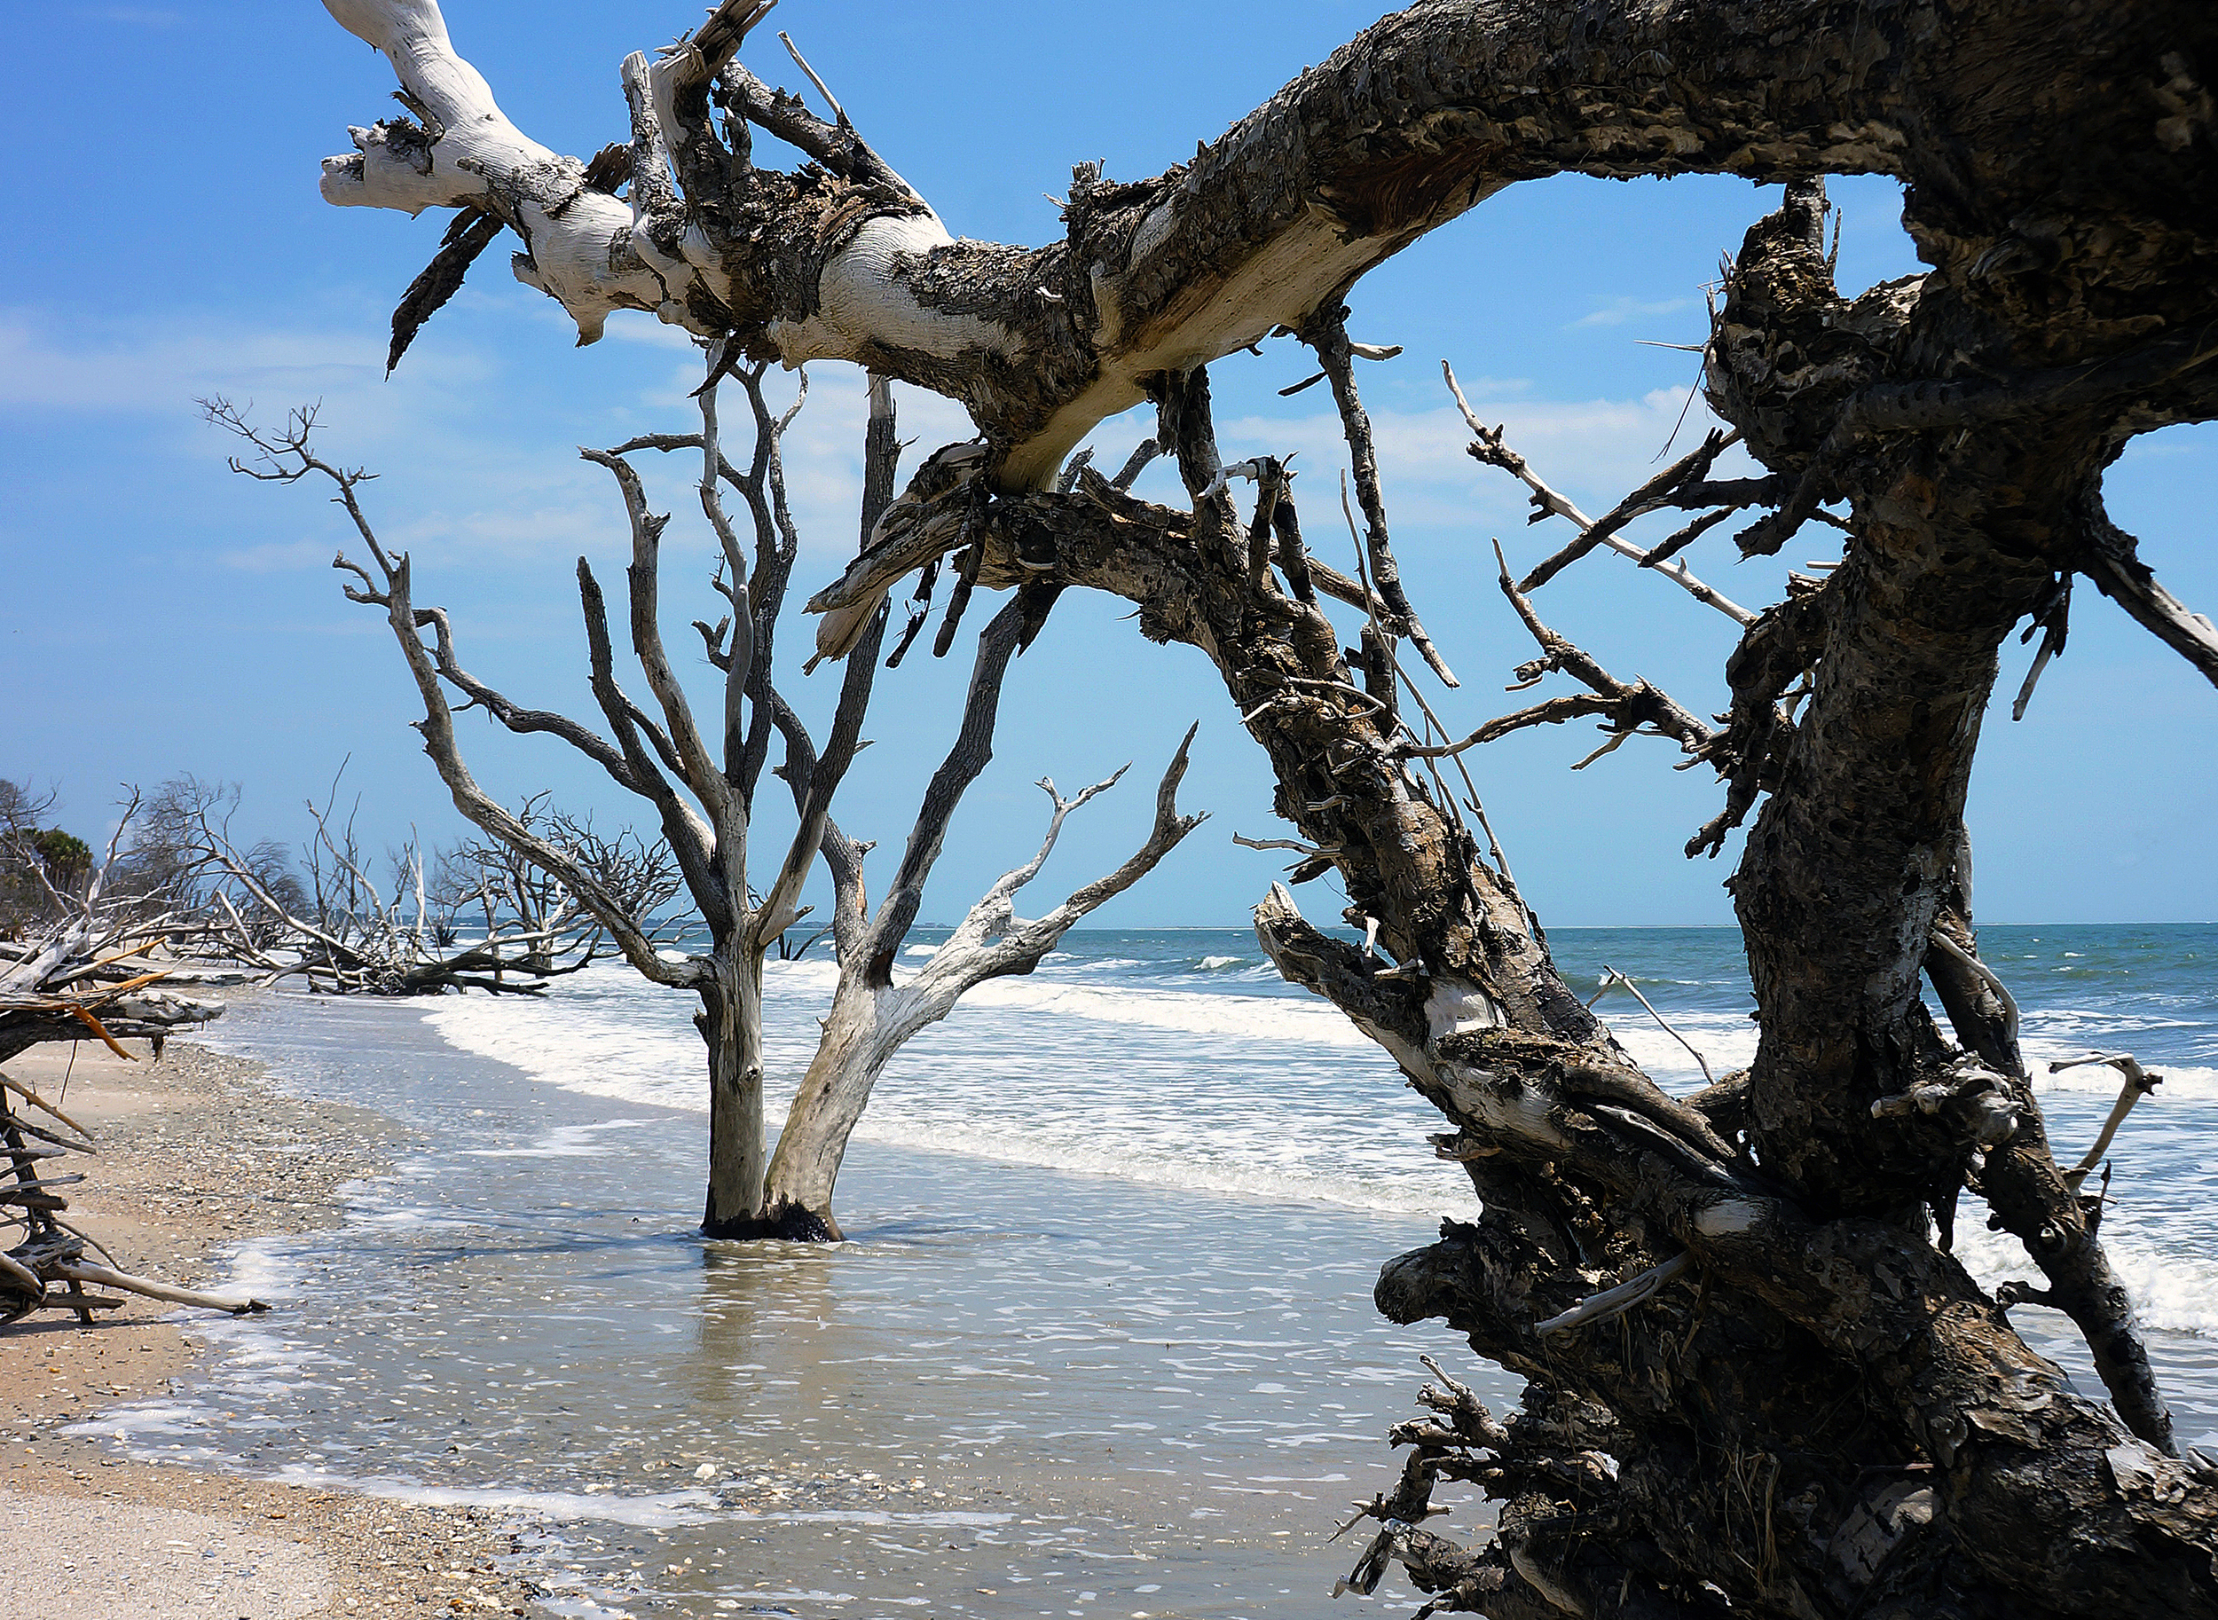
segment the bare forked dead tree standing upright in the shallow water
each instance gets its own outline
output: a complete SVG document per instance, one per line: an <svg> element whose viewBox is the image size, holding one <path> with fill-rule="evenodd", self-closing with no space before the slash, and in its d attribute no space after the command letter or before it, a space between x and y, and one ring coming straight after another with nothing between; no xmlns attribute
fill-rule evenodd
<svg viewBox="0 0 2218 1620"><path fill-rule="evenodd" d="M393 626L424 706L424 719L417 721L424 752L439 768L455 808L501 848L574 894L645 979L701 996L694 1023L708 1045L710 1072L710 1172L701 1229L714 1238L825 1241L841 1236L832 1214L832 1187L847 1136L901 1043L927 1023L945 1019L971 985L1031 972L1080 917L1153 870L1200 823L1200 817L1180 817L1176 808L1176 788L1187 768L1187 750L1180 748L1162 777L1147 843L1122 868L1078 890L1045 919L1020 921L1014 914L1014 897L1040 870L1062 817L1109 788L1116 777L1069 801L1054 792L1054 783L1042 783L1054 801L1054 814L1040 852L1005 874L912 981L894 983L894 961L916 921L947 823L963 790L991 759L994 721L1009 659L1040 632L1058 590L1040 586L1018 593L978 637L978 659L958 737L925 790L887 897L876 912L869 912L863 888L863 857L869 846L856 843L832 821L832 797L863 748L863 717L869 708L887 615L881 608L865 626L858 657L847 664L836 712L818 746L801 715L772 684L779 615L785 608L785 588L801 544L785 502L781 442L807 397L807 384L803 379L794 406L779 415L763 395L763 364L734 368L732 353L723 344L712 344L708 382L696 393L701 433L648 435L612 450L581 450L588 462L614 477L630 522L630 650L654 701L650 712L617 684L608 606L599 579L579 557L586 650L592 695L608 723L606 737L561 715L528 710L459 664L446 610L415 604L408 555L386 550L373 533L357 497L364 473L333 466L311 448L313 413L295 413L277 435L262 435L222 402L213 402L208 413L255 446L260 462L255 466L233 462L237 470L286 484L315 475L337 488L368 561L357 564L342 553L335 566L359 581L346 586L348 599L381 608ZM745 468L723 455L719 388L728 375L739 379L752 411L754 453ZM692 699L661 639L661 535L670 517L648 508L645 484L628 459L645 450L692 450L701 457L701 513L716 537L714 586L728 606L714 626L705 619L694 621L708 661L721 675L714 732L703 732L694 719ZM894 393L883 379L869 391L865 450L861 533L867 539L892 499L901 455L894 437ZM745 502L752 517L752 555L725 510L728 488ZM945 646L947 637L940 639L940 650ZM892 661L898 661L898 652ZM563 841L550 828L535 826L528 817L492 801L461 757L455 739L457 708L448 690L464 697L464 708L486 710L510 732L561 739L599 763L619 788L652 803L663 843L708 928L710 948L685 956L665 954L648 897L625 892L612 870L583 859L574 841ZM783 743L783 766L774 774L783 777L792 792L796 830L774 877L756 890L750 885L747 839L754 826L754 794L774 743ZM816 1059L801 1081L772 1158L763 1127L763 959L807 912L801 905L801 888L818 852L832 872L836 899L838 990Z"/></svg>

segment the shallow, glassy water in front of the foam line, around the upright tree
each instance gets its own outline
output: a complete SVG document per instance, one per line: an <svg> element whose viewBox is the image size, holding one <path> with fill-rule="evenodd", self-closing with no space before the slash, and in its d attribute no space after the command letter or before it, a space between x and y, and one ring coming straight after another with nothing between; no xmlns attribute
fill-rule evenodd
<svg viewBox="0 0 2218 1620"><path fill-rule="evenodd" d="M858 1143L854 1243L703 1243L699 1116L395 1008L242 1012L233 1045L430 1147L342 1232L251 1245L284 1307L104 1427L510 1505L552 1613L1324 1616L1446 1343L1371 1305L1424 1218Z"/></svg>

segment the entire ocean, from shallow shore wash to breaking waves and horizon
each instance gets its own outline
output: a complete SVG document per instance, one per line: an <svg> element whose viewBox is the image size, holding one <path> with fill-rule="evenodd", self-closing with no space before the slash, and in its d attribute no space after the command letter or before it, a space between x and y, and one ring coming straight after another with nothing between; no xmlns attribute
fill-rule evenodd
<svg viewBox="0 0 2218 1620"><path fill-rule="evenodd" d="M1624 990L1597 1003L1661 1083L1752 1056L1730 930L1553 948L1573 985L1632 974L1686 1036ZM1981 948L2061 1156L2116 1079L2047 1061L2165 1074L2112 1150L2105 1238L2183 1436L2218 1445L2218 928ZM830 985L825 961L770 968L774 1090ZM559 1616L1233 1620L1357 1604L1329 1598L1353 1556L1329 1538L1391 1480L1417 1354L1515 1398L1446 1332L1373 1314L1377 1265L1468 1216L1468 1183L1393 1065L1244 930L1076 932L974 992L881 1081L841 1181L854 1241L825 1249L690 1234L690 1014L614 965L543 1001L242 1005L217 1043L428 1145L355 1187L342 1229L244 1245L282 1309L200 1327L191 1380L100 1427L140 1456L503 1505ZM1990 1285L2029 1274L1970 1203L1958 1252ZM2092 1380L2063 1318L2014 1320Z"/></svg>

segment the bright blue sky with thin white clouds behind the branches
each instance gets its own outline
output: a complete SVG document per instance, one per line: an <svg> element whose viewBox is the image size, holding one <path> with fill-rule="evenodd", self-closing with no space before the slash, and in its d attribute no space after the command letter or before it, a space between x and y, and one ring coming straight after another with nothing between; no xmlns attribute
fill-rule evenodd
<svg viewBox="0 0 2218 1620"><path fill-rule="evenodd" d="M526 131L590 153L625 131L617 62L696 11L696 0L452 0L448 24ZM1209 33L1222 44L1209 51L1182 44L1191 4L1153 0L1113 20L1036 4L787 0L776 27L952 231L1040 242L1058 229L1042 193L1062 193L1071 162L1153 173L1373 16L1215 4ZM796 80L772 31L750 64ZM619 317L601 344L572 348L563 313L508 277L503 246L386 382L393 302L444 220L317 198L317 160L346 149L346 124L393 107L381 60L317 4L51 4L20 9L9 38L0 142L35 160L0 173L18 222L0 246L0 774L58 783L67 826L89 834L104 830L122 781L235 779L244 830L297 839L299 801L350 759L348 792L362 794L373 837L410 823L452 837L459 821L406 728L410 690L384 624L346 604L328 568L337 513L306 488L226 473L231 446L193 397L251 399L271 417L319 399L326 453L381 473L373 517L413 550L419 599L452 608L466 661L512 697L590 715L570 568L590 555L614 584L628 541L606 473L574 450L685 428L694 351L648 317ZM1894 186L1852 180L1834 195L1843 286L1916 269ZM1566 535L1528 530L1517 486L1462 455L1439 360L1544 477L1601 510L1652 470L1695 379L1692 355L1646 344L1701 340L1701 288L1772 198L1732 180L1519 186L1357 286L1355 335L1406 346L1362 382L1404 575L1464 677L1459 692L1435 695L1459 730L1526 701L1499 690L1530 646L1495 593L1488 539L1530 561ZM1322 388L1275 395L1309 375L1304 362L1286 342L1222 362L1220 431L1235 455L1302 453L1304 530L1346 566L1329 522L1337 426L1320 413L1331 402ZM967 435L945 402L907 391L901 404L916 455ZM861 417L861 377L812 368L790 444L803 593L854 548ZM1681 446L1699 422L1697 406ZM1147 431L1140 417L1105 424L1102 459L1122 459ZM685 621L710 606L708 546L690 526L683 468L654 477L659 504L679 513L663 597L683 646ZM2107 497L2158 577L2214 610L2218 559L2202 530L2218 435L2174 428L2138 442ZM1785 564L1825 555L1810 530L1774 564L1737 564L1730 533L1715 530L1688 561L1750 606L1779 593ZM1648 675L1697 710L1723 706L1732 626L1668 584L1601 557L1550 584L1539 606L1619 675ZM2029 650L2005 655L1972 794L1983 919L2209 919L2218 695L2085 584L2074 608L2069 650L2021 726L2007 701ZM1282 832L1260 750L1200 655L1144 644L1120 612L1074 595L1018 661L996 763L956 823L927 917L958 914L1029 850L1045 821L1029 786L1040 774L1069 790L1133 761L1120 792L1071 821L1040 890L1060 894L1122 859L1191 719L1202 732L1184 799L1213 819L1100 921L1238 923L1275 877L1271 857L1231 846L1233 832ZM803 639L787 630L787 646ZM952 732L967 641L943 664L918 650L881 677L878 746L841 801L849 830L881 841L878 865ZM823 672L787 681L812 710L830 699ZM503 794L552 786L603 823L634 814L559 746L464 735ZM1728 921L1719 883L1737 846L1721 861L1679 857L1719 788L1672 772L1664 743L1568 772L1593 746L1593 732L1546 730L1473 759L1544 919ZM1326 890L1304 890L1320 919L1337 910Z"/></svg>

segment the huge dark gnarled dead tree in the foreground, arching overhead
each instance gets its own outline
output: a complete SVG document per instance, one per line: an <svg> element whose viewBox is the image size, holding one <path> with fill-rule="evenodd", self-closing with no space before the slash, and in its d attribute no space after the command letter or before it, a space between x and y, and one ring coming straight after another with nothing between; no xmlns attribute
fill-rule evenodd
<svg viewBox="0 0 2218 1620"><path fill-rule="evenodd" d="M1309 925L1291 890L1258 908L1262 941L1446 1114L1439 1152L1484 1198L1386 1267L1380 1305L1446 1318L1528 1378L1508 1420L1435 1391L1446 1422L1413 1438L1357 1584L1400 1560L1435 1611L1504 1620L2218 1613L2218 1494L2174 1454L2094 1212L2049 1154L2007 992L1976 959L1963 839L1996 652L2027 617L2061 641L2072 577L2218 681L2218 632L2100 502L2136 433L2218 415L2209 7L1437 0L1189 164L1125 184L1080 166L1062 240L1016 249L952 240L843 113L754 78L739 49L767 4L632 58L632 142L592 164L499 115L430 0L328 4L393 62L413 118L355 131L326 198L459 211L395 353L508 226L517 275L581 340L643 308L759 360L934 388L971 411L983 455L925 462L907 519L812 601L823 650L863 650L892 584L963 548L965 586L1109 590L1220 670L1298 830L1293 877L1337 872L1375 950ZM812 164L756 166L752 129ZM1539 664L1586 686L1548 717L1664 732L1723 770L1697 848L1752 817L1732 890L1761 1045L1683 1103L1557 976L1475 790L1446 788L1464 757L1420 757L1451 737L1404 721L1417 688L1395 644L1417 624L1382 566L1342 326L1366 269L1573 171L1792 186L1732 262L1706 348L1763 477L1690 510L1759 510L1743 553L1830 506L1848 537L1823 581L1761 612L1723 604L1746 628L1719 730L1530 621ZM1841 297L1823 173L1907 182L1932 271ZM1349 426L1355 579L1304 550L1275 462L1247 468L1253 517L1227 493L1202 366L1275 331L1317 351ZM1191 506L1091 470L1058 488L1065 453L1142 397ZM1710 486L1706 466L1675 475L1635 504ZM1584 528L1621 550L1608 519ZM1324 599L1362 615L1353 659ZM1952 1032L1923 1010L1925 974ZM1961 1189L2025 1241L2107 1403L1936 1245ZM1439 1471L1504 1500L1493 1545L1420 1529Z"/></svg>

